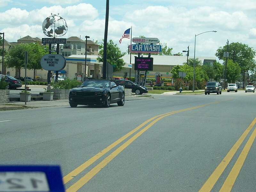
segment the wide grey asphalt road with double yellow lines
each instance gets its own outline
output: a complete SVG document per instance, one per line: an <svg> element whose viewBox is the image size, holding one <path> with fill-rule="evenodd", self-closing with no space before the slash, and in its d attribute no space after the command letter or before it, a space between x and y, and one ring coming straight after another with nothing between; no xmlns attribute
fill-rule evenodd
<svg viewBox="0 0 256 192"><path fill-rule="evenodd" d="M58 164L66 191L255 191L256 94L0 111L0 164Z"/></svg>

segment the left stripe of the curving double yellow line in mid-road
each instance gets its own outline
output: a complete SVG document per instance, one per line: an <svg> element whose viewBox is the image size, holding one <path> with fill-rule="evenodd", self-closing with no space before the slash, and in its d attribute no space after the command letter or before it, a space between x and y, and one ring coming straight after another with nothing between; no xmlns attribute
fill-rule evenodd
<svg viewBox="0 0 256 192"><path fill-rule="evenodd" d="M212 103L209 103L209 104L212 104ZM205 104L205 105L209 105L209 104ZM199 107L203 107L205 105L200 105ZM187 108L187 109L189 110L189 109L193 109L193 108L195 108L195 107ZM183 111L183 110L184 109L177 110L177 111L174 111L174 112L180 112L180 111ZM144 125L146 125L148 122L152 121L153 119L155 119L155 118L157 118L159 116L167 115L167 114L170 114L170 113L173 113L173 112L168 112L168 113L165 113L165 114L154 116L154 117L148 119L147 121L145 121L144 123L140 124L138 127L133 129L132 131L128 132L126 135L124 135L120 139L116 140L114 143L112 143L111 145L109 145L108 147L106 147L105 149L100 151L98 154L96 154L95 156L91 157L89 160L87 160L86 162L84 162L83 164L78 166L75 170L73 170L72 172L70 172L66 176L64 176L63 177L63 183L66 184L68 181L73 179L76 175L78 175L79 173L84 171L84 169L86 169L88 166L90 166L92 163L94 163L96 160L98 160L101 156L105 155L112 148L116 147L116 145L118 145L119 143L124 141L126 138L131 136L134 132L138 131L140 128L142 128Z"/></svg>

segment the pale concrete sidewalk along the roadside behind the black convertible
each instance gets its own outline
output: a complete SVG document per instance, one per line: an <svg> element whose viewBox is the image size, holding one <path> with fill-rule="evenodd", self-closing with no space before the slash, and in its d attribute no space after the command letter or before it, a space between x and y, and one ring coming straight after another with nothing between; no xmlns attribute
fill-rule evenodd
<svg viewBox="0 0 256 192"><path fill-rule="evenodd" d="M146 95L132 95L125 96L125 100L141 100L141 99L153 99L152 96L146 97ZM40 107L56 107L56 106L69 106L68 99L64 100L52 100L52 101L44 101L44 100L31 100L26 103L21 101L11 101L9 103L0 103L0 111L2 110L15 110L15 109L23 109L23 108L40 108Z"/></svg>

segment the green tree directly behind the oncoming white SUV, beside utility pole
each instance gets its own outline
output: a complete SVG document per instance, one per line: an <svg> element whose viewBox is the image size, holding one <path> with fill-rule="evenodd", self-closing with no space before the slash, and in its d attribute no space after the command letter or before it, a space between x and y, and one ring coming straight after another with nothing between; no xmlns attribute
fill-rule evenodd
<svg viewBox="0 0 256 192"><path fill-rule="evenodd" d="M240 78L241 68L239 64L233 62L232 60L228 60L227 62L227 82L228 83L235 83Z"/></svg>

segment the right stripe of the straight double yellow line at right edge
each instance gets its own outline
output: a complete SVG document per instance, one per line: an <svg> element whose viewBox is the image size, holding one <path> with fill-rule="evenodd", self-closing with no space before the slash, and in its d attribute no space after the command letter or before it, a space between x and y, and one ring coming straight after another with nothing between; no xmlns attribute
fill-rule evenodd
<svg viewBox="0 0 256 192"><path fill-rule="evenodd" d="M255 120L255 119L254 119ZM251 137L249 138L249 140L247 141L247 143L244 146L244 149L242 150L241 154L239 155L238 159L236 160L236 163L234 164L232 170L230 171L230 173L228 174L227 179L225 180L224 184L222 185L222 187L220 188L220 192L228 192L231 191L236 178L244 164L244 161L252 147L252 143L255 140L256 137L256 128L254 129L254 131L252 132Z"/></svg>

